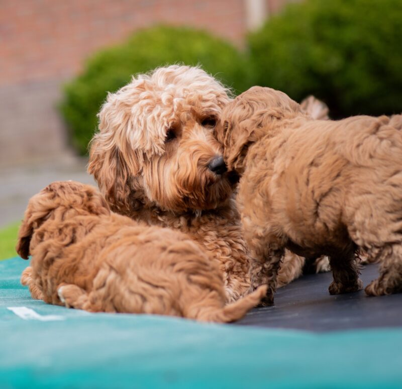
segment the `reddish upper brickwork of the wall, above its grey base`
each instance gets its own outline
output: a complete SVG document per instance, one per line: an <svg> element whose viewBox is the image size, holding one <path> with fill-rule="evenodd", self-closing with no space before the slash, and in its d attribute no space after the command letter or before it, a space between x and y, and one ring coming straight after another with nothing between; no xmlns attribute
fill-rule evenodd
<svg viewBox="0 0 402 389"><path fill-rule="evenodd" d="M19 0L0 13L0 85L76 73L99 47L154 23L244 36L243 0Z"/></svg>

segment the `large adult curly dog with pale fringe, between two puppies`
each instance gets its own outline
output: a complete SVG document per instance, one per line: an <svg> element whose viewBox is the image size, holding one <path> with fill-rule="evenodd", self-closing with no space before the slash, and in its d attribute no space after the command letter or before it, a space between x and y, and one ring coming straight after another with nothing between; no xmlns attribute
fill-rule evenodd
<svg viewBox="0 0 402 389"><path fill-rule="evenodd" d="M184 232L218 259L232 302L250 288L250 254L232 199L237 177L213 134L229 101L228 89L197 67L138 75L108 95L88 171L113 211ZM288 252L279 283L303 264Z"/></svg>

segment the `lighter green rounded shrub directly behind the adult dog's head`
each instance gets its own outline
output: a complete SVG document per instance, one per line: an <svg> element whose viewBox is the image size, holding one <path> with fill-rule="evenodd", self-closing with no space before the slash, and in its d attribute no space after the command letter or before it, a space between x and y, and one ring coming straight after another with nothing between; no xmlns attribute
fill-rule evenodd
<svg viewBox="0 0 402 389"><path fill-rule="evenodd" d="M66 85L61 112L78 151L86 152L96 129L96 113L108 91L122 87L133 74L176 63L200 64L237 92L250 86L246 60L220 38L184 27L139 31L123 44L97 52L83 73Z"/></svg>

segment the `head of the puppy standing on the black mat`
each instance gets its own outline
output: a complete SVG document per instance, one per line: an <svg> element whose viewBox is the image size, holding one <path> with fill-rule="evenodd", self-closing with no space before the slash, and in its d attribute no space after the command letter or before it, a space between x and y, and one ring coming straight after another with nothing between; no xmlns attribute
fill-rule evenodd
<svg viewBox="0 0 402 389"><path fill-rule="evenodd" d="M300 106L285 93L253 86L223 110L215 134L224 145L229 170L242 174L248 147L261 139L278 120L302 115Z"/></svg>

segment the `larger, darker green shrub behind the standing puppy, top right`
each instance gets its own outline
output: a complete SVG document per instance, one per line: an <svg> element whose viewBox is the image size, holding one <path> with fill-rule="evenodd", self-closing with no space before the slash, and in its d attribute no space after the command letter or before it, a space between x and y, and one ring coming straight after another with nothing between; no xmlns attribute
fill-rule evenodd
<svg viewBox="0 0 402 389"><path fill-rule="evenodd" d="M255 82L332 115L402 111L402 1L308 0L248 37Z"/></svg>

